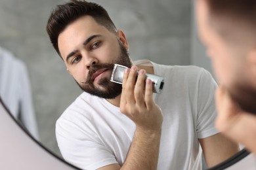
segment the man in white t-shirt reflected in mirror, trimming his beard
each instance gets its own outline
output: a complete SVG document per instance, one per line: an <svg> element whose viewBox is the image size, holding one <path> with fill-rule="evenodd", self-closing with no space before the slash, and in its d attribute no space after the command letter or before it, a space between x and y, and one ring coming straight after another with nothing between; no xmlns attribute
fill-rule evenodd
<svg viewBox="0 0 256 170"><path fill-rule="evenodd" d="M200 144L209 166L238 152L213 127L216 84L204 69L135 65L125 34L95 3L59 5L47 33L84 91L56 122L66 161L82 169L201 169ZM114 63L131 68L123 85L110 82ZM165 76L161 94L145 73Z"/></svg>

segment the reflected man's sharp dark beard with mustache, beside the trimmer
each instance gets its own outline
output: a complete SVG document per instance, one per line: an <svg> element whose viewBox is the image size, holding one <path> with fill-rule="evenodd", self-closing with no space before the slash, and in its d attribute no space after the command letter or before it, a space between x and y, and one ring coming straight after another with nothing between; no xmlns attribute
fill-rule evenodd
<svg viewBox="0 0 256 170"><path fill-rule="evenodd" d="M119 47L120 47L121 53L119 54L119 57L115 61L113 61L112 63L102 63L102 64L91 65L86 82L81 82L82 84L79 84L75 80L75 82L77 82L81 90L83 90L84 92L90 93L91 95L102 97L104 99L114 99L121 94L122 85L117 84L115 82L110 82L110 78L106 78L106 77L101 78L98 81L98 87L96 87L93 84L93 79L91 78L92 75L100 69L106 69L106 71L107 70L113 71L115 63L131 68L132 63L131 63L131 59L129 58L129 55L127 54L127 50L120 42L119 42Z"/></svg>

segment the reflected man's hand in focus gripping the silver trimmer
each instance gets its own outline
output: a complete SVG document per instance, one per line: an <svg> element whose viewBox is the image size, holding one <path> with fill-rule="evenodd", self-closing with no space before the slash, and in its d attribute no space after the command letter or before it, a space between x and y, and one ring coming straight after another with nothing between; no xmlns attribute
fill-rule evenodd
<svg viewBox="0 0 256 170"><path fill-rule="evenodd" d="M146 71L137 67L126 69L123 75L120 110L143 130L159 130L163 122L160 107L153 100L152 81L146 78ZM145 84L146 82L146 84Z"/></svg>

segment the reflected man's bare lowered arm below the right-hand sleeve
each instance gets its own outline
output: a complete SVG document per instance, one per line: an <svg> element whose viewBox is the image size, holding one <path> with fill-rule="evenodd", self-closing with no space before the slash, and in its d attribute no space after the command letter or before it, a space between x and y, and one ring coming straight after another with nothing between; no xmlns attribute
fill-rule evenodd
<svg viewBox="0 0 256 170"><path fill-rule="evenodd" d="M213 167L239 152L238 144L230 141L221 133L199 139L203 156L208 167Z"/></svg>

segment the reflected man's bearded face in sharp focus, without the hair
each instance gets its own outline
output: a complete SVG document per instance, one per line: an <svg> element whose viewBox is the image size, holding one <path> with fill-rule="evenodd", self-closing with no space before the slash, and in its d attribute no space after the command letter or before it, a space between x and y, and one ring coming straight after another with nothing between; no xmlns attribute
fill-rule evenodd
<svg viewBox="0 0 256 170"><path fill-rule="evenodd" d="M114 99L121 93L121 85L110 82L110 76L114 63L132 65L128 46L121 44L126 43L122 36L117 37L91 16L75 20L60 33L60 55L82 90L106 99Z"/></svg>

